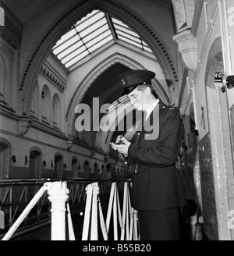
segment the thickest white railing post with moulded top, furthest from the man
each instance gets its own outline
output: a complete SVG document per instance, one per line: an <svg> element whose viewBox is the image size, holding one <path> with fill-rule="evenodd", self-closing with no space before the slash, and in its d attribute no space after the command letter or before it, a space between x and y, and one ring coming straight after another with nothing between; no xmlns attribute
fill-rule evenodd
<svg viewBox="0 0 234 256"><path fill-rule="evenodd" d="M48 183L51 201L51 240L66 240L66 201L69 190L66 181Z"/></svg>

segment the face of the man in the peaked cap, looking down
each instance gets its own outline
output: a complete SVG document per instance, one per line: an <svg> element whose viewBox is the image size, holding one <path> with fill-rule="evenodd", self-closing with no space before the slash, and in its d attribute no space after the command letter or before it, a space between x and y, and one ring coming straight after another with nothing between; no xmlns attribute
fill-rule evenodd
<svg viewBox="0 0 234 256"><path fill-rule="evenodd" d="M136 88L128 94L128 97L134 108L137 108L139 111L145 110L148 101L147 90L144 89L144 91L140 91Z"/></svg>

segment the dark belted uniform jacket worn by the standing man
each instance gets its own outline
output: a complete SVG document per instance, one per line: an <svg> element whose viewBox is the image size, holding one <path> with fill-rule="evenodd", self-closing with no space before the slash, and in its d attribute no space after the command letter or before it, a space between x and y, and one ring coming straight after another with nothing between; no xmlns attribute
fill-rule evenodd
<svg viewBox="0 0 234 256"><path fill-rule="evenodd" d="M137 210L162 210L186 204L183 182L175 165L184 133L179 111L159 101L151 113L151 122L152 118L158 127L157 136L146 139L152 131L143 129L135 135L128 150L128 161L137 164L132 195L133 208Z"/></svg>

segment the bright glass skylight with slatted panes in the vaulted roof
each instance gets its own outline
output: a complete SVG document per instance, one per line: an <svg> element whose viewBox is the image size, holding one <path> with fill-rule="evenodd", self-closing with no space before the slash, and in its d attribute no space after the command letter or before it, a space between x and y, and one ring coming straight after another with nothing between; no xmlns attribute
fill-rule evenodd
<svg viewBox="0 0 234 256"><path fill-rule="evenodd" d="M52 48L57 58L69 68L110 41L126 42L143 51L151 52L137 33L105 12L94 10L64 34Z"/></svg>

